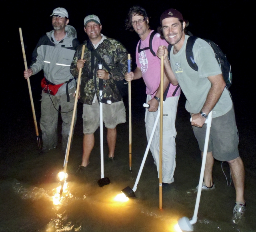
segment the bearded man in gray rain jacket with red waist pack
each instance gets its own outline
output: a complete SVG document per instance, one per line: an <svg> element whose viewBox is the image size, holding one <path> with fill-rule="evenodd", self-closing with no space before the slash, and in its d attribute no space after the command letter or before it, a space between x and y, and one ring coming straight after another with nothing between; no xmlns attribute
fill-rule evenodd
<svg viewBox="0 0 256 232"><path fill-rule="evenodd" d="M56 8L50 15L54 30L42 36L32 54L32 64L24 71L25 79L44 70L40 128L43 151L56 148L58 142L58 113L62 116L62 151L66 151L74 108L72 94L76 80L70 74L70 64L79 46L76 30L69 26L68 12ZM71 96L71 97L70 97ZM59 108L61 110L59 111Z"/></svg>

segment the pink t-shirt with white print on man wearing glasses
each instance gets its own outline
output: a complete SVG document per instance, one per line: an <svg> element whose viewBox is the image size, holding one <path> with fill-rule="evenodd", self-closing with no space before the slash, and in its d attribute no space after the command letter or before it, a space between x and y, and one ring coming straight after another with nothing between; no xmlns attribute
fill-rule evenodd
<svg viewBox="0 0 256 232"><path fill-rule="evenodd" d="M152 30L148 37L141 41L140 44L140 49L149 47L149 38L150 34L153 32ZM144 50L138 53L138 46L139 46L140 41L137 44L136 48L136 64L137 66L141 69L142 72L142 78L146 84L146 94L151 95L152 98L156 94L156 90L158 89L160 85L160 63L161 60L157 56L153 56L152 53L150 52L150 49ZM161 45L168 46L168 43L166 40L162 40L160 38L160 34L156 34L152 40L152 48L153 51L156 53L158 50L158 47ZM168 90L167 97L172 97L172 93L176 89L177 86L173 86L170 84L170 88ZM175 96L180 95L180 88L178 88L178 91L176 92Z"/></svg>

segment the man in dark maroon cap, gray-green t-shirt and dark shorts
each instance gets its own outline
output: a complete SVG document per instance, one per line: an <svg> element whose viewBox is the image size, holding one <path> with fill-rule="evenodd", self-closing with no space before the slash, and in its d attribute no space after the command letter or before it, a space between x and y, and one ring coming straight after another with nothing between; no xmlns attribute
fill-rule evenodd
<svg viewBox="0 0 256 232"><path fill-rule="evenodd" d="M185 35L186 22L182 14L175 9L162 13L160 22L162 36L172 45L170 59L167 58L166 46L159 47L157 56L164 56L164 69L170 82L180 84L186 96L186 110L192 117L192 129L203 153L208 114L212 111L212 126L204 172L202 190L212 190L212 166L214 158L228 162L236 189L234 217L240 218L245 210L244 200L244 165L238 153L238 132L230 93L222 71L216 61L211 46L202 39L197 39L193 46L194 62L198 71L190 68L186 59Z"/></svg>

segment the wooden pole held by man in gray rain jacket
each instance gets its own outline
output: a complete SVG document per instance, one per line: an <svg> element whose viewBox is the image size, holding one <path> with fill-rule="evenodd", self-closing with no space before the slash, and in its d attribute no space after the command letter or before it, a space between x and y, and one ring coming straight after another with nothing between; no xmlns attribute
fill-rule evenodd
<svg viewBox="0 0 256 232"><path fill-rule="evenodd" d="M23 54L23 59L24 59L24 65L25 65L25 70L28 70L28 65L27 65L27 60L26 60L26 53L25 53L25 48L24 48L24 42L23 42L23 36L22 36L22 30L19 28L20 32L20 42L21 42L21 48L22 48L22 54ZM30 96L30 102L31 102L31 107L32 107L32 113L33 113L33 118L34 118L34 124L36 128L36 136L37 136L37 143L39 149L41 148L40 144L40 138L39 138L39 133L38 133L38 127L37 127L37 122L36 122L36 113L35 113L35 108L34 108L34 101L33 101L33 96L32 96L32 91L31 91L31 86L30 86L30 80L29 78L27 79L28 81L28 91L29 91L29 96Z"/></svg>

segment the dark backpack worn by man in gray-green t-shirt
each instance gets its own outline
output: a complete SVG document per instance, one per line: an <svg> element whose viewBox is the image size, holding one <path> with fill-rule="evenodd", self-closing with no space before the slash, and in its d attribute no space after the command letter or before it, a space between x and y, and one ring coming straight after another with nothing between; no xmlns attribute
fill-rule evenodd
<svg viewBox="0 0 256 232"><path fill-rule="evenodd" d="M189 66L192 69L194 69L195 71L198 71L198 66L197 66L196 62L194 61L194 54L193 54L192 49L193 49L193 45L194 45L195 41L198 38L199 37L196 37L196 36L188 37L188 42L186 45L187 62L189 64ZM214 54L215 54L215 58L218 61L218 64L220 65L223 79L226 82L226 87L229 88L232 84L232 71L231 71L230 63L228 62L228 60L226 58L226 55L222 52L222 50L220 49L220 47L217 44L212 42L212 40L208 40L208 39L202 39L202 40L208 42L208 44L210 44L210 46L212 47ZM171 48L172 48L172 45L169 44L168 45L168 56L169 57L170 57Z"/></svg>

